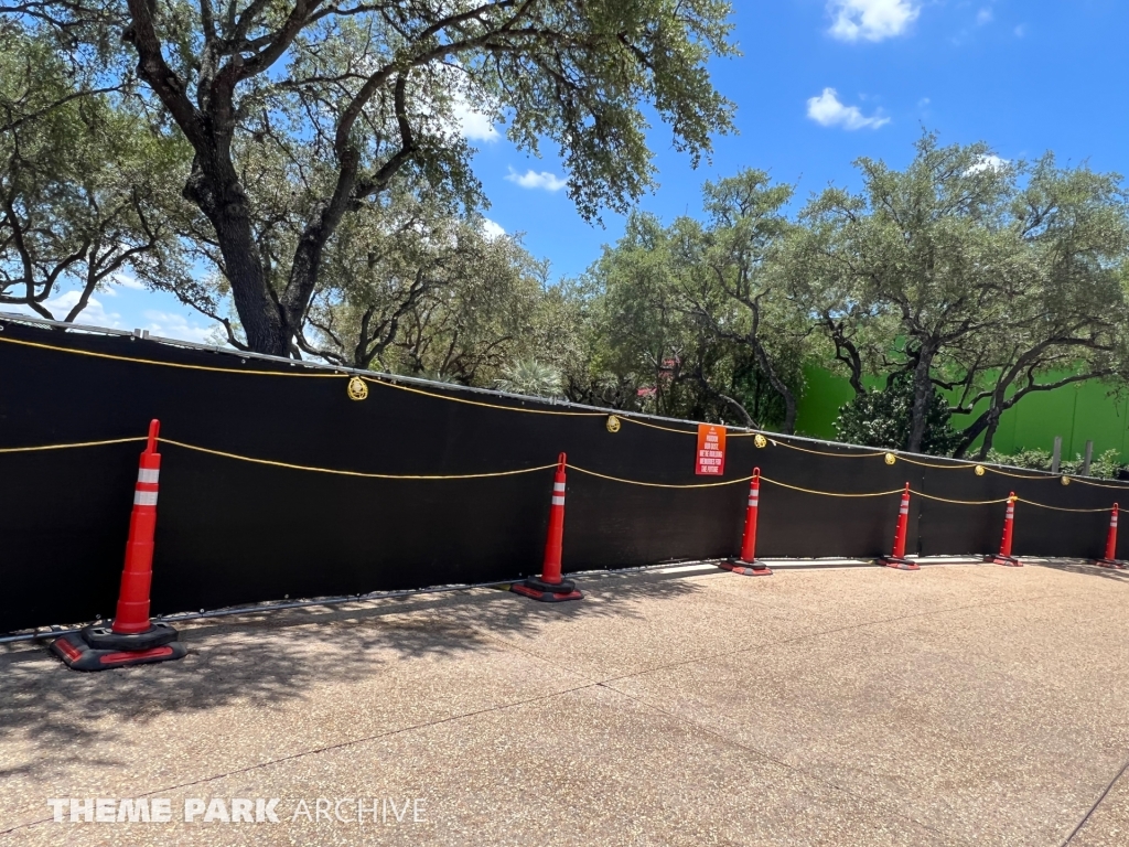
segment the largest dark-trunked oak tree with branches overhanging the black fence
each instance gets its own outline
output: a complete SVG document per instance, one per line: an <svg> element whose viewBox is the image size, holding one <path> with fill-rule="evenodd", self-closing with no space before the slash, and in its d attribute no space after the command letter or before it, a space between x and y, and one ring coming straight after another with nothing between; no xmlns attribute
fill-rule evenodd
<svg viewBox="0 0 1129 847"><path fill-rule="evenodd" d="M298 349L333 236L397 178L481 203L460 104L505 121L519 148L553 145L587 218L651 185L645 105L694 163L730 128L706 70L735 52L719 0L8 0L0 11L91 44L121 21L139 96L191 147L184 197L260 352ZM277 180L250 178L263 158L288 181L281 198Z"/></svg>

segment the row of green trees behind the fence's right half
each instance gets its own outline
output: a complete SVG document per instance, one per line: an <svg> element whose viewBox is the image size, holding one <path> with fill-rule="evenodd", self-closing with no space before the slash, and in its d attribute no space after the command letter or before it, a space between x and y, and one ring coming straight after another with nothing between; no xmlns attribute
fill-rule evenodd
<svg viewBox="0 0 1129 847"><path fill-rule="evenodd" d="M1124 382L1119 175L929 133L902 171L856 167L858 193L831 187L790 215L791 187L758 171L707 183L701 218L632 215L586 277L577 394L790 433L817 361L855 390L844 440L965 455L979 438L982 457L1023 398Z"/></svg>

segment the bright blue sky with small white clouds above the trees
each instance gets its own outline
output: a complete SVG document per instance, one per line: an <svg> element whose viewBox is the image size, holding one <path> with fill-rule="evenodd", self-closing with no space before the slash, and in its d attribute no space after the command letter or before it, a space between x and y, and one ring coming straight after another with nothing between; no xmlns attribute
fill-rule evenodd
<svg viewBox="0 0 1129 847"><path fill-rule="evenodd" d="M666 126L650 132L660 185L640 206L666 219L698 213L701 183L742 167L796 183L800 200L856 185L855 158L904 165L922 126L943 142L987 141L1005 159L1050 149L1129 172L1127 0L736 0L734 23L744 55L710 70L737 104L739 132L718 138L697 171ZM478 115L463 129L479 148L487 215L524 233L554 277L581 273L620 236L620 217L601 228L576 213L549 150L530 158ZM209 332L170 296L128 280L96 300L80 320L187 340Z"/></svg>

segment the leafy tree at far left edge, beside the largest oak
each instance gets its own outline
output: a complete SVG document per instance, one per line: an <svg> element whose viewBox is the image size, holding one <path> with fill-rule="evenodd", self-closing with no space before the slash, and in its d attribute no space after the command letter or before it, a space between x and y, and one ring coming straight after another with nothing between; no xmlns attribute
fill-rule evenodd
<svg viewBox="0 0 1129 847"><path fill-rule="evenodd" d="M169 213L184 146L119 93L49 38L0 26L0 304L73 321L114 274L185 278ZM63 282L76 294L52 312Z"/></svg>

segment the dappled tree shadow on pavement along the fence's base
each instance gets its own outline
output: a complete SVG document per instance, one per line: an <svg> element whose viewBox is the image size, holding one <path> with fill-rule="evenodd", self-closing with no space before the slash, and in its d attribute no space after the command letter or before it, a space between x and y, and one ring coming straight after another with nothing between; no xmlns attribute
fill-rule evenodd
<svg viewBox="0 0 1129 847"><path fill-rule="evenodd" d="M124 765L99 759L102 745L89 743L116 734L123 721L135 733L138 724L168 713L236 702L266 708L306 697L317 683L378 676L404 660L507 649L495 634L535 634L560 619L640 617L634 606L642 599L701 591L677 578L689 575L583 577L586 597L570 603L474 590L185 622L178 625L189 647L184 660L98 673L68 670L45 645L25 647L0 655L0 779L43 776L78 762ZM15 736L20 754L14 761L3 748Z"/></svg>

